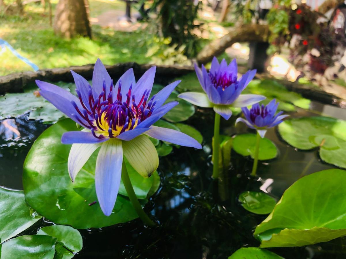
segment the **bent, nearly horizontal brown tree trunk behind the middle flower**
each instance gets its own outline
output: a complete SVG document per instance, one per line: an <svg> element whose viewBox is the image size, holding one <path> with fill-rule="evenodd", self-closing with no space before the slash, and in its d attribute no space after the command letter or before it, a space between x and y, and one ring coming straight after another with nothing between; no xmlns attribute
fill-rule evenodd
<svg viewBox="0 0 346 259"><path fill-rule="evenodd" d="M197 55L197 61L200 64L208 63L213 56L222 54L225 49L236 42L265 42L268 40L269 33L267 25L250 24L232 28L224 37L214 40L205 46Z"/></svg>

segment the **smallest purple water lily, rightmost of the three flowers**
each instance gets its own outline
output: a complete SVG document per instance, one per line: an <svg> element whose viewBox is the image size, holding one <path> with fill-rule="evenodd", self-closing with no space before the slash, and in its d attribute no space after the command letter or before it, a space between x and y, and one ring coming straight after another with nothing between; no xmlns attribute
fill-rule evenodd
<svg viewBox="0 0 346 259"><path fill-rule="evenodd" d="M273 99L266 106L254 104L250 111L247 107L242 108L242 112L245 116L243 118L237 118L236 124L238 122L244 122L249 128L255 129L258 134L263 138L268 128L272 128L280 123L282 119L290 115L281 115L283 112L278 112L276 115L276 109L279 103L275 103L276 100Z"/></svg>

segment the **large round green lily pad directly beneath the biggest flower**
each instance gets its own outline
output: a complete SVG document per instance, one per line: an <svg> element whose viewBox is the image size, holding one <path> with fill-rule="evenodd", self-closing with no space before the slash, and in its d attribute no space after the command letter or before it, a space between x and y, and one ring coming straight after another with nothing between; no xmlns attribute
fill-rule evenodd
<svg viewBox="0 0 346 259"><path fill-rule="evenodd" d="M137 218L131 202L122 195L118 195L109 217L102 213L98 203L93 204L97 201L95 153L72 184L67 172L71 145L61 144L61 136L75 130L75 122L64 119L44 131L31 147L23 173L26 202L45 218L77 229L101 228Z"/></svg>

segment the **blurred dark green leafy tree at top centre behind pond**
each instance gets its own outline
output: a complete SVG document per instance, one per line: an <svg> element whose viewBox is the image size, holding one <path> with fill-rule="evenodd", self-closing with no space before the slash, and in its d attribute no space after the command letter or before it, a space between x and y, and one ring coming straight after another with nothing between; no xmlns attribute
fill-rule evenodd
<svg viewBox="0 0 346 259"><path fill-rule="evenodd" d="M200 1L198 0L153 0L150 11L157 11L158 35L171 38L171 45L177 48L185 46L185 54L196 54L197 37L193 29L198 15Z"/></svg>

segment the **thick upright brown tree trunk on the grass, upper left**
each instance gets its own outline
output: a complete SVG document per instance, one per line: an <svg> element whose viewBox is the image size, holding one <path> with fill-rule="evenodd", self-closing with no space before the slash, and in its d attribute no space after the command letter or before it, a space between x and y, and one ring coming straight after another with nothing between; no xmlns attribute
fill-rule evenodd
<svg viewBox="0 0 346 259"><path fill-rule="evenodd" d="M88 0L59 0L54 18L54 32L66 38L76 35L91 38Z"/></svg>

